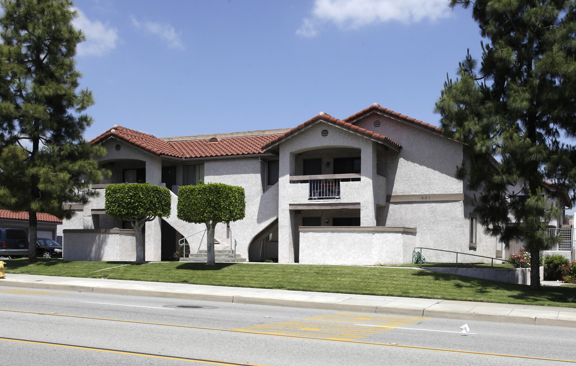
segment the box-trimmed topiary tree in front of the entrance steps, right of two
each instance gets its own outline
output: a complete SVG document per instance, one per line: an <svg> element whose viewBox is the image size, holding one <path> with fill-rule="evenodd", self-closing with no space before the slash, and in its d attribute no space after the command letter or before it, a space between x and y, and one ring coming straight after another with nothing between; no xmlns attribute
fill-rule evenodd
<svg viewBox="0 0 576 366"><path fill-rule="evenodd" d="M218 222L242 220L245 216L246 201L244 188L223 183L203 183L197 186L183 186L178 190L177 217L180 220L206 224L206 265L213 266L214 229Z"/></svg>

